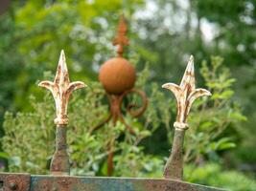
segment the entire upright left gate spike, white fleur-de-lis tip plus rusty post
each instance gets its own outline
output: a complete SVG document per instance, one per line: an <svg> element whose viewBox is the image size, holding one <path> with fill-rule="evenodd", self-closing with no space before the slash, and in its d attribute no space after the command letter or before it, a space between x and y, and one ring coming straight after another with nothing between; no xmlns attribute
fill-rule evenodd
<svg viewBox="0 0 256 191"><path fill-rule="evenodd" d="M68 124L67 106L72 92L85 87L85 84L81 81L70 83L65 54L62 50L54 82L42 81L38 85L50 90L56 103L56 151L51 161L50 171L53 175L68 175L70 171L70 164L66 150L66 126Z"/></svg>

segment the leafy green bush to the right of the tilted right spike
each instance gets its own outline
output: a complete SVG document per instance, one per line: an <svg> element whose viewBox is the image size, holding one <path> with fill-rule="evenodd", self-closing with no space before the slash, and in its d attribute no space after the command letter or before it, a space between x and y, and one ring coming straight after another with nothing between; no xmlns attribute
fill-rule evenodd
<svg viewBox="0 0 256 191"><path fill-rule="evenodd" d="M240 121L246 117L233 99L232 85L236 80L222 62L221 57L213 56L210 65L203 61L200 68L212 96L198 99L192 108L189 117L191 128L186 134L185 161L219 160L220 152L234 148L238 133L242 132Z"/></svg>

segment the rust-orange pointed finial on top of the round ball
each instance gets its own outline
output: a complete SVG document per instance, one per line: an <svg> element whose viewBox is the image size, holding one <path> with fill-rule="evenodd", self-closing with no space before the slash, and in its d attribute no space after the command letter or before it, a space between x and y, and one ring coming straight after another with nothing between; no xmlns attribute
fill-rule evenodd
<svg viewBox="0 0 256 191"><path fill-rule="evenodd" d="M124 14L120 16L117 36L113 40L113 45L117 45L117 54L119 57L123 56L124 45L128 45L128 37L126 36L128 26Z"/></svg>

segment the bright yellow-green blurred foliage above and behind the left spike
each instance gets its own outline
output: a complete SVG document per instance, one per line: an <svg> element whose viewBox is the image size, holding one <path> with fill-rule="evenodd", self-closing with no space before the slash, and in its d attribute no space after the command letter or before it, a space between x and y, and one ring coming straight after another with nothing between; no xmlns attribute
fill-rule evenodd
<svg viewBox="0 0 256 191"><path fill-rule="evenodd" d="M141 4L134 1L127 13ZM70 72L88 81L96 79L99 65L110 57L109 47L122 9L121 0L28 1L15 11L16 51L24 68L17 83L23 87L15 104L24 108L24 97L35 93L35 81L56 68L56 56L64 49ZM107 52L108 51L108 52Z"/></svg>

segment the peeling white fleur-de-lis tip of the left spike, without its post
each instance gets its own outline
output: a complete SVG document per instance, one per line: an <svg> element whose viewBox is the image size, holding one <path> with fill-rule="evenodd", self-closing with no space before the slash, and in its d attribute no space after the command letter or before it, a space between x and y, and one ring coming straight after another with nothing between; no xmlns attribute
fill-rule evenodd
<svg viewBox="0 0 256 191"><path fill-rule="evenodd" d="M85 84L81 81L70 83L69 74L66 66L66 58L63 50L60 53L57 74L54 82L42 81L38 84L38 86L50 90L54 96L57 113L55 123L57 125L68 124L67 105L69 96L72 94L73 91L84 88Z"/></svg>

